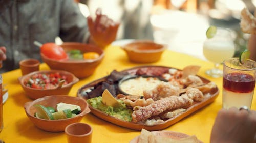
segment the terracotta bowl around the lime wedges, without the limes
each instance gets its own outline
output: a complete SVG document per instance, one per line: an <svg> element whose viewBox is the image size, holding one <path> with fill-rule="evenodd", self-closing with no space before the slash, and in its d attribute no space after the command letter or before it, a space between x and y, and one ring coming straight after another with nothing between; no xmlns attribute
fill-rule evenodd
<svg viewBox="0 0 256 143"><path fill-rule="evenodd" d="M40 118L34 117L36 108L33 105L40 104L46 107L48 106L54 107L56 109L56 105L60 102L79 105L81 107L81 112L76 117L59 119L59 120L47 120L47 119L40 119ZM81 119L87 113L90 112L90 109L88 107L86 100L79 97L62 96L62 95L46 96L31 102L27 102L24 104L24 109L26 111L27 116L34 123L36 127L38 127L41 130L50 131L50 132L65 131L66 126L72 123L80 122Z"/></svg>

